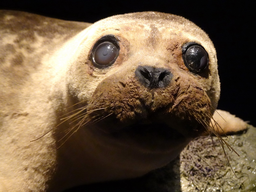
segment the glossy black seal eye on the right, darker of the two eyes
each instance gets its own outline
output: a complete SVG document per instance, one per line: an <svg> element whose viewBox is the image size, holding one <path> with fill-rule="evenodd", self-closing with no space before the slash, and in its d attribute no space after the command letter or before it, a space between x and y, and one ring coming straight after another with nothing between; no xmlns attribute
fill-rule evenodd
<svg viewBox="0 0 256 192"><path fill-rule="evenodd" d="M189 42L183 46L182 58L186 67L195 72L204 70L209 63L208 53L196 42Z"/></svg>

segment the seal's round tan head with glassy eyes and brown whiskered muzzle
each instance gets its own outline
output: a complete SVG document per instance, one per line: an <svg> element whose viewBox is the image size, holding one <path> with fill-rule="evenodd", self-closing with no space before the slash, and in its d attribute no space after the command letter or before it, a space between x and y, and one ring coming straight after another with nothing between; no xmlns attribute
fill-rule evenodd
<svg viewBox="0 0 256 192"><path fill-rule="evenodd" d="M194 23L133 13L103 19L80 35L66 80L70 111L83 115L69 134L86 130L100 138L98 145L118 148L116 165L146 173L206 131L219 99L219 77L214 46ZM161 155L148 160L138 153Z"/></svg>

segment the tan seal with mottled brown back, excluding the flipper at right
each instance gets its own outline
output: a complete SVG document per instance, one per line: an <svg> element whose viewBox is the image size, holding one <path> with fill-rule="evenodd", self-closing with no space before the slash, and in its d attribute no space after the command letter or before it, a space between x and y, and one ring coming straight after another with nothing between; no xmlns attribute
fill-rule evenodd
<svg viewBox="0 0 256 192"><path fill-rule="evenodd" d="M142 12L89 24L5 10L0 18L1 191L142 176L218 131L216 51L189 20Z"/></svg>

